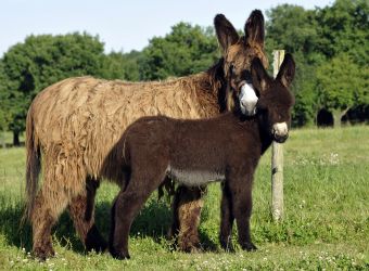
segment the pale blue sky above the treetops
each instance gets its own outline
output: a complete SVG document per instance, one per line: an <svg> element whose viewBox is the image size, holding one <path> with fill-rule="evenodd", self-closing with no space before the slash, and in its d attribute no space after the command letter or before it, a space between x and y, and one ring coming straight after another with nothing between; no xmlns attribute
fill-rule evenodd
<svg viewBox="0 0 369 271"><path fill-rule="evenodd" d="M331 5L333 0L1 0L0 56L29 35L87 31L99 36L105 51L142 50L154 36L165 36L179 22L212 26L222 13L237 29L254 9L278 4L305 9Z"/></svg>

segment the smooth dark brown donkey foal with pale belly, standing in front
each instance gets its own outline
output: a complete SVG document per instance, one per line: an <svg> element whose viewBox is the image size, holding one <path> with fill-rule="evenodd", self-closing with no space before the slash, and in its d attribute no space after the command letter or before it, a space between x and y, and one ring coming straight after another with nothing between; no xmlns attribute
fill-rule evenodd
<svg viewBox="0 0 369 271"><path fill-rule="evenodd" d="M258 59L251 70L259 92L259 113L254 117L246 118L236 108L200 120L143 117L127 128L111 153L127 176L112 208L110 251L114 257L129 258L132 220L167 176L189 188L224 181L221 245L230 240L236 219L242 248L256 249L250 236L253 175L271 141L288 138L294 101L288 88L295 64L287 54L276 79L267 75Z"/></svg>

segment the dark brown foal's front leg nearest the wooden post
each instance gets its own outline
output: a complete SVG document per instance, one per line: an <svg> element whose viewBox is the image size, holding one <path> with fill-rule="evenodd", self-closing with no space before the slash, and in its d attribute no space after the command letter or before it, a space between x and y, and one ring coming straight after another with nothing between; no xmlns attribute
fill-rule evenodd
<svg viewBox="0 0 369 271"><path fill-rule="evenodd" d="M256 246L251 241L250 217L252 212L252 177L247 176L246 182L240 178L233 179L230 183L232 195L232 209L237 221L239 243L242 249L255 250Z"/></svg>

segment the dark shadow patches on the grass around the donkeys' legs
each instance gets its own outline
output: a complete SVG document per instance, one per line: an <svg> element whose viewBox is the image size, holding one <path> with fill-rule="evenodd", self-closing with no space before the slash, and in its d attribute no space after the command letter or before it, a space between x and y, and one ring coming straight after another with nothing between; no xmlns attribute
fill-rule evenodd
<svg viewBox="0 0 369 271"><path fill-rule="evenodd" d="M33 244L31 227L28 222L21 225L23 205L21 203L9 205L4 198L0 198L0 202L4 202L0 207L0 234L4 236L8 245L30 251ZM96 224L105 240L107 240L110 231L110 202L100 202L96 208ZM162 243L163 238L165 240L167 236L170 223L171 210L168 204L151 198L136 217L130 236L152 237L154 242ZM79 254L86 253L67 211L60 217L52 234L61 246ZM200 240L204 250L213 251L216 249L216 245L205 232L200 231Z"/></svg>

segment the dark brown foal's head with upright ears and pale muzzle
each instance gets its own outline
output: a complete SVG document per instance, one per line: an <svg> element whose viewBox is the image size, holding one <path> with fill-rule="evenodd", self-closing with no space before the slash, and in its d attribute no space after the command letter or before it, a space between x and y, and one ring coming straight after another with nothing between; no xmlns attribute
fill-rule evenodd
<svg viewBox="0 0 369 271"><path fill-rule="evenodd" d="M292 55L285 54L276 79L267 74L258 59L253 60L251 73L253 86L259 93L256 105L259 117L272 139L282 143L289 137L291 108L294 104L294 98L289 90L295 74Z"/></svg>

